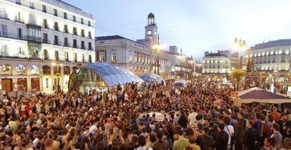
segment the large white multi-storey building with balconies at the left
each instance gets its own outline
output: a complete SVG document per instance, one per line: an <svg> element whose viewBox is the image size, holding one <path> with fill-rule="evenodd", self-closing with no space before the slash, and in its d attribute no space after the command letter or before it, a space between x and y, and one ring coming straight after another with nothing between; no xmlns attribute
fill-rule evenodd
<svg viewBox="0 0 291 150"><path fill-rule="evenodd" d="M52 92L60 73L95 62L95 20L60 0L0 0L0 88ZM59 68L52 66L59 64Z"/></svg>

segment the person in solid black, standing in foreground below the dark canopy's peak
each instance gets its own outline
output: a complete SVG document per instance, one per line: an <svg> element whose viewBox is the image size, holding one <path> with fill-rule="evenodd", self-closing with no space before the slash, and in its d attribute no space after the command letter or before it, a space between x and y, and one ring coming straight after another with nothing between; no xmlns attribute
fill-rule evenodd
<svg viewBox="0 0 291 150"><path fill-rule="evenodd" d="M243 136L243 144L249 150L256 149L256 144L259 141L259 132L252 128L253 124L254 122L252 120L247 121L247 130Z"/></svg>

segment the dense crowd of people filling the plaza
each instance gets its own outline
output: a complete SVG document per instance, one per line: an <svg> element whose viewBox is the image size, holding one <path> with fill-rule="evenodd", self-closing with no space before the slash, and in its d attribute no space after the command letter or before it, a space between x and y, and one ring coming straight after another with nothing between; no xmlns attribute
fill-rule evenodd
<svg viewBox="0 0 291 150"><path fill-rule="evenodd" d="M290 109L234 106L232 89L216 85L165 81L105 93L4 95L0 149L291 149Z"/></svg>

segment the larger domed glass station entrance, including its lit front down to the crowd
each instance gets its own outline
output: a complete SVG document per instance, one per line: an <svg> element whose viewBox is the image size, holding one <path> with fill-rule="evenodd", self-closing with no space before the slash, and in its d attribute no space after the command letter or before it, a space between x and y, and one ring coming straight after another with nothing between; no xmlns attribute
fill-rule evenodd
<svg viewBox="0 0 291 150"><path fill-rule="evenodd" d="M143 80L124 67L106 63L87 64L70 75L69 90L80 91L81 88L90 87L110 88L118 83L124 85L130 82L143 83Z"/></svg>

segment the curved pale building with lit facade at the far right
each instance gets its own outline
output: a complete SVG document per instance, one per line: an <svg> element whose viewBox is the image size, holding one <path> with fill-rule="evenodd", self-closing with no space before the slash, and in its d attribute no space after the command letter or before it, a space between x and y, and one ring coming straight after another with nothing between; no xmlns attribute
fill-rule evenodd
<svg viewBox="0 0 291 150"><path fill-rule="evenodd" d="M250 58L256 71L265 71L277 76L282 81L290 75L291 39L280 39L259 43L245 51L245 58Z"/></svg>

